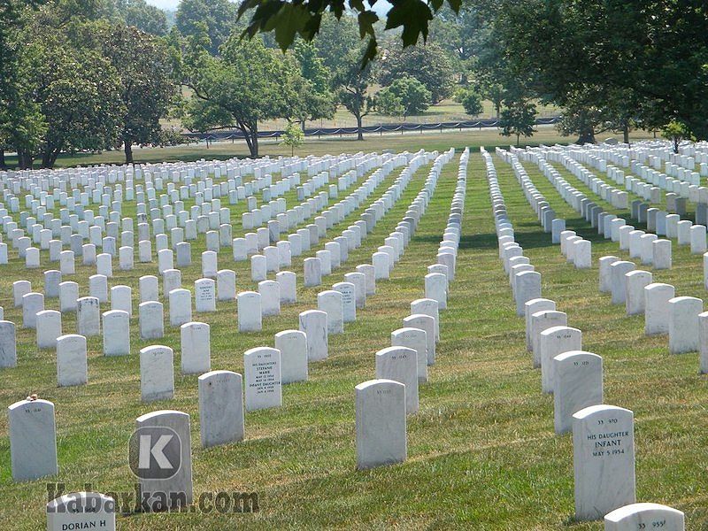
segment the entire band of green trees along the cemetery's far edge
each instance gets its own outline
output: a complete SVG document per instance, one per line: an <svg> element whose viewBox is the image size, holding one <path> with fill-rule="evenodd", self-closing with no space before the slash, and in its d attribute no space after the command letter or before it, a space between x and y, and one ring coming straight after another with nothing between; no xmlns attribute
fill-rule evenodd
<svg viewBox="0 0 708 531"><path fill-rule="evenodd" d="M343 109L361 139L373 112L407 119L450 97L470 116L491 102L517 142L538 102L578 142L607 130L627 142L635 127L676 148L708 137L703 1L416 0L385 21L318 2L181 0L172 26L144 0L0 2L0 167L6 152L21 168L90 150L129 163L181 127L238 128L258 157L267 120L304 128Z"/></svg>

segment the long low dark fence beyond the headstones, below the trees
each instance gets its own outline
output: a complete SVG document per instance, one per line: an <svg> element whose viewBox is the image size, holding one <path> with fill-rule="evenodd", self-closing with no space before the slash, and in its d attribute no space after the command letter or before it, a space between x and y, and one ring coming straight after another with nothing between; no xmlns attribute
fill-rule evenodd
<svg viewBox="0 0 708 531"><path fill-rule="evenodd" d="M548 126L558 123L560 116L549 116L547 118L537 118L537 126ZM438 122L435 124L414 124L414 123L398 123L398 124L380 124L378 126L361 127L362 133L397 133L406 131L443 131L444 129L481 129L482 127L498 127L498 119L474 119L469 121L457 122ZM336 135L356 135L358 127L310 127L304 131L305 136L336 136ZM285 131L258 131L258 138L275 138L280 137ZM223 140L238 140L243 138L243 132L240 129L229 129L224 131L211 131L209 133L187 133L184 135L190 140L196 141L223 141Z"/></svg>

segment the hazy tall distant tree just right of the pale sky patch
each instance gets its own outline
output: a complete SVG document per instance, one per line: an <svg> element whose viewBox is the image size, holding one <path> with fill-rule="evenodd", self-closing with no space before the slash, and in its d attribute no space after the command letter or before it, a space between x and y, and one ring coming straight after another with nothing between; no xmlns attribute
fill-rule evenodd
<svg viewBox="0 0 708 531"><path fill-rule="evenodd" d="M185 37L200 34L206 27L210 41L207 49L219 55L219 47L227 42L236 19L236 4L228 0L181 0L175 25Z"/></svg>

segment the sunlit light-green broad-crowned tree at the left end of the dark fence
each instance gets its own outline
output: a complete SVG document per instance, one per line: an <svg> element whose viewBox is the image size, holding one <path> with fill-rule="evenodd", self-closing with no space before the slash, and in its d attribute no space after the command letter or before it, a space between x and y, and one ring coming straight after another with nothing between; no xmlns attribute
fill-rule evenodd
<svg viewBox="0 0 708 531"><path fill-rule="evenodd" d="M232 35L220 58L197 44L185 54L184 63L185 83L193 97L204 102L189 105L190 123L238 127L251 157L258 157L258 123L289 117L296 106L291 81L300 76L296 61L267 49L260 39L242 41Z"/></svg>

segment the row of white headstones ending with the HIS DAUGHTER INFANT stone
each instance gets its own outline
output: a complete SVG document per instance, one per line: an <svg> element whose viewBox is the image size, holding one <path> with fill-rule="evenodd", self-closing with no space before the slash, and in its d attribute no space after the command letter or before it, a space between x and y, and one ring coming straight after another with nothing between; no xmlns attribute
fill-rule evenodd
<svg viewBox="0 0 708 531"><path fill-rule="evenodd" d="M682 512L661 504L636 503L634 413L604 404L602 358L582 350L581 330L568 327L566 313L558 312L554 301L541 296L541 274L530 262L519 264L516 259L523 257L523 250L513 241L493 161L487 153L484 157L499 256L510 274L517 313L526 319L527 350L533 353L534 367L541 369L543 392L553 394L556 433L573 433L575 518L604 518L608 531L683 530ZM507 160L512 165L516 162L514 158ZM529 204L543 220L543 209L550 208L548 202L520 165L515 166L515 173L517 178L521 175L519 182ZM552 222L546 232L551 231ZM566 235L562 237L567 250ZM512 267L516 269L512 271Z"/></svg>

